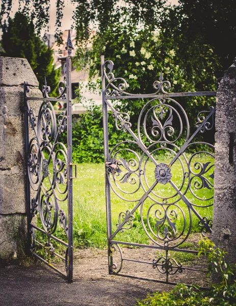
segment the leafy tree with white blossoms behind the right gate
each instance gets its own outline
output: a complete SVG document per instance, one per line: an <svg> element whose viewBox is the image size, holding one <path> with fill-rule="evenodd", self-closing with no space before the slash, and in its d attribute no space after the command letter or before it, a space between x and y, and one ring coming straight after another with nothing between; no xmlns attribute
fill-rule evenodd
<svg viewBox="0 0 236 306"><path fill-rule="evenodd" d="M90 7L85 1L77 6L77 66L89 63L92 79L100 73L103 54L105 59L114 61L115 77L124 78L128 92L133 93L154 92L153 82L159 79L161 71L165 80L171 82L172 92L217 89L215 72L221 69L219 58L200 36L185 44L179 31L183 17L177 8L158 0L137 0L136 6L132 5L134 1L125 3L117 7L115 1L94 1ZM95 27L96 31L90 30ZM135 127L145 101L122 103L122 111L129 112ZM198 112L208 110L214 101L196 97L180 103L195 130Z"/></svg>

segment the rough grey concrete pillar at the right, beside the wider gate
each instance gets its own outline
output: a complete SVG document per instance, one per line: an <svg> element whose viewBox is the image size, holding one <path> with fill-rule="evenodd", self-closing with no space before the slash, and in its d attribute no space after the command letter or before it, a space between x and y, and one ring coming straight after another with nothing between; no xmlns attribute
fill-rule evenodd
<svg viewBox="0 0 236 306"><path fill-rule="evenodd" d="M213 241L236 263L236 59L217 91L215 139Z"/></svg>

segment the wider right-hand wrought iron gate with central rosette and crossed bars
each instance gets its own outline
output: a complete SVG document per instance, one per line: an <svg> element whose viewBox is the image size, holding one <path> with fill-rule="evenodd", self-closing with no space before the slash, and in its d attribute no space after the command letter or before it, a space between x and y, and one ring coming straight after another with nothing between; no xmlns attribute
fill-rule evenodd
<svg viewBox="0 0 236 306"><path fill-rule="evenodd" d="M211 98L216 92L168 93L171 84L163 81L161 73L159 81L153 84L154 93L130 94L126 81L115 77L113 66L112 61L104 62L101 57L109 273L176 284L177 272L203 271L202 267L182 265L176 258L177 252L198 253L189 248L192 243L187 243L193 225L199 227L203 236L210 237L212 232L209 210L213 205L214 146L196 137L212 130L215 108L198 114L196 130L191 133L188 115L174 98ZM129 114L117 108L123 99L131 100L130 103L134 99L145 100L135 126L137 133ZM132 136L112 148L108 133L110 115L117 133ZM138 227L146 235L145 243L132 238ZM127 248L122 252L122 245L149 248L154 254L151 259L140 260L135 252L130 255ZM148 271L154 276L144 277L142 272L137 276L137 264L150 267Z"/></svg>

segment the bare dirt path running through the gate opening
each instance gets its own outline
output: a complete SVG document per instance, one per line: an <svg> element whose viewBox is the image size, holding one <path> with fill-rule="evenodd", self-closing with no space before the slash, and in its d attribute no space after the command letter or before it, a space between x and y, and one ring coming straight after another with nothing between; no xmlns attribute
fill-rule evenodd
<svg viewBox="0 0 236 306"><path fill-rule="evenodd" d="M127 249L125 256L130 255L130 252L132 257L147 258L149 254L152 258L150 250ZM152 270L150 265L133 265L135 275L141 273L143 277L154 277L155 270ZM170 285L109 275L107 252L99 249L83 249L74 254L72 284L67 284L60 275L41 264L1 265L0 273L1 306L136 305L137 299L145 298L148 293L173 288ZM196 277L187 271L175 275L173 281L190 281ZM204 279L201 282L204 285Z"/></svg>

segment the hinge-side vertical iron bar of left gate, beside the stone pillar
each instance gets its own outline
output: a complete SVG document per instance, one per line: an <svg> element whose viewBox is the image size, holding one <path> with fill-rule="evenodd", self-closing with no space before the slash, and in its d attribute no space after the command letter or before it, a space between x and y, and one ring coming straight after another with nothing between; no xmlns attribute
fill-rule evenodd
<svg viewBox="0 0 236 306"><path fill-rule="evenodd" d="M30 181L28 175L28 151L29 151L29 118L28 118L28 107L27 107L27 95L26 86L28 83L24 82L24 142L25 142L25 171L26 171L26 197L27 197L27 232L28 232L28 247L27 252L30 254L31 248L31 202L30 202Z"/></svg>

